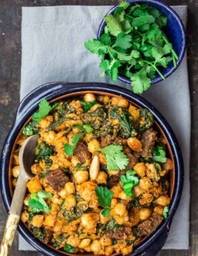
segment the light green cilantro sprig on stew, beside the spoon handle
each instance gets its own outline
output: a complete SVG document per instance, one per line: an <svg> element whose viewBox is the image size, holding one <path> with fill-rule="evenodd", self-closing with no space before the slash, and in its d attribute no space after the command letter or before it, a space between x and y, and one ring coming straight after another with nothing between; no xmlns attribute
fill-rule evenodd
<svg viewBox="0 0 198 256"><path fill-rule="evenodd" d="M30 199L28 200L28 206L32 207L32 212L50 212L50 208L48 207L44 198L50 198L52 194L50 192L46 192L42 189L38 191L38 193L31 193Z"/></svg>

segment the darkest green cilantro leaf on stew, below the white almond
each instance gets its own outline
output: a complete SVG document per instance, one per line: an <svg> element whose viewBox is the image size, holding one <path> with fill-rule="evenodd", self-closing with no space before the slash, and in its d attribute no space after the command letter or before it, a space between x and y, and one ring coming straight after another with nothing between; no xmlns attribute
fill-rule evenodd
<svg viewBox="0 0 198 256"><path fill-rule="evenodd" d="M95 193L98 198L99 205L105 209L101 212L104 217L109 216L111 199L113 198L113 192L107 189L107 187L97 186Z"/></svg>

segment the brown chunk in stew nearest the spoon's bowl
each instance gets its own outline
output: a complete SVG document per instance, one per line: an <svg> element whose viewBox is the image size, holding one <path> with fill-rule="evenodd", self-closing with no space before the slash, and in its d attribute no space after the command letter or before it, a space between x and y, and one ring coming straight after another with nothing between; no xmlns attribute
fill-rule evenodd
<svg viewBox="0 0 198 256"><path fill-rule="evenodd" d="M54 190L60 190L64 187L65 183L68 182L68 177L64 172L58 168L56 170L51 170L46 175L46 180Z"/></svg>

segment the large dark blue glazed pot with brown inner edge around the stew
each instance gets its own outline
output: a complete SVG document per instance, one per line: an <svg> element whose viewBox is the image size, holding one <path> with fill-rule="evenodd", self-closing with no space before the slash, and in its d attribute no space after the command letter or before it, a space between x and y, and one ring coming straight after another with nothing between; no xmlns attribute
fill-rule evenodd
<svg viewBox="0 0 198 256"><path fill-rule="evenodd" d="M154 115L154 119L160 128L161 133L164 134L164 137L166 137L166 140L168 141L169 152L172 155L173 161L175 162L175 172L172 172L172 176L170 178L172 180L172 186L170 185L170 194L172 195L172 199L170 203L168 218L164 220L160 226L158 226L154 233L148 236L148 238L140 243L140 245L135 247L133 253L131 254L131 256L154 256L156 253L158 253L158 251L160 251L166 241L170 224L172 222L172 217L174 216L175 211L177 210L177 206L179 205L181 192L183 189L183 158L175 134L173 133L164 117L162 117L162 115L158 112L158 110L156 110L152 104L150 104L141 96L134 95L129 90L120 88L118 86L108 86L107 84L100 83L46 84L36 88L30 92L26 98L23 99L17 109L13 127L9 131L9 134L5 140L0 160L0 187L3 201L5 203L5 208L8 212L11 204L11 194L13 191L11 185L11 155L15 147L15 141L17 141L17 137L21 132L22 127L26 124L28 119L30 119L32 114L38 109L39 102L43 98L51 101L57 100L58 98L60 99L70 96L78 96L85 92L108 94L109 96L122 96L140 108L148 108ZM44 245L44 243L33 236L32 232L30 232L30 230L22 222L19 223L18 230L23 238L25 238L26 241L30 243L30 245L35 247L41 253L48 256L68 255L66 253L55 251L52 249L52 247Z"/></svg>

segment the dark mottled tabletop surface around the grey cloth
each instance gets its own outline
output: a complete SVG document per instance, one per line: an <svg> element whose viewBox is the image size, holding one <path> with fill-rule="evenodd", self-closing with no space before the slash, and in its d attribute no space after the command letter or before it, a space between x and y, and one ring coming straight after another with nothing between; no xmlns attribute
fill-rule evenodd
<svg viewBox="0 0 198 256"><path fill-rule="evenodd" d="M187 58L189 68L189 86L191 92L191 230L190 249L166 250L158 256L196 256L198 255L198 100L197 100L197 53L198 53L198 1L197 0L164 0L170 5L188 6L187 23ZM115 0L0 0L0 151L3 141L11 128L15 111L19 104L20 65L21 65L21 6L45 5L114 5ZM185 193L185 191L184 191ZM7 217L2 200L0 201L0 237ZM183 230L183 232L186 232ZM36 256L41 253L18 251L17 236L13 243L12 256Z"/></svg>

